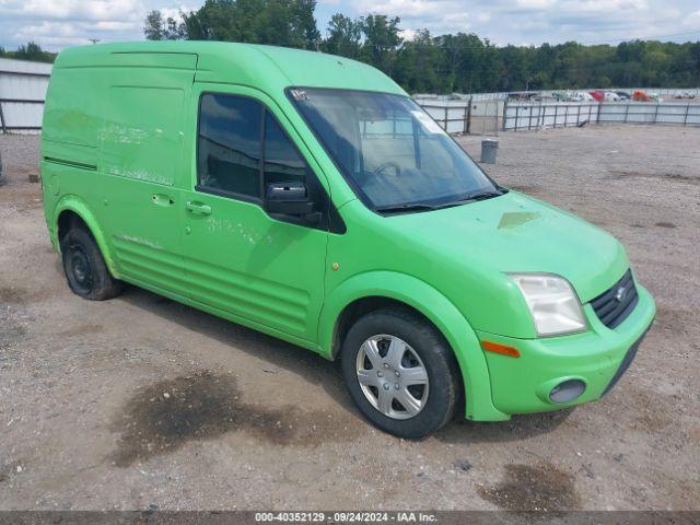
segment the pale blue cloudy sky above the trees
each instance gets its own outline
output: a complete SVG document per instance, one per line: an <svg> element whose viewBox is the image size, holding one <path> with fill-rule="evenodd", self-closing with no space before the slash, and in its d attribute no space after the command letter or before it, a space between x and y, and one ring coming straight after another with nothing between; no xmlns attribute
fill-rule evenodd
<svg viewBox="0 0 700 525"><path fill-rule="evenodd" d="M143 38L143 19L198 9L203 0L0 0L0 46L28 40L52 51ZM700 40L700 0L317 0L322 34L336 12L397 15L404 36L476 33L497 45L578 40L617 44L632 38Z"/></svg>

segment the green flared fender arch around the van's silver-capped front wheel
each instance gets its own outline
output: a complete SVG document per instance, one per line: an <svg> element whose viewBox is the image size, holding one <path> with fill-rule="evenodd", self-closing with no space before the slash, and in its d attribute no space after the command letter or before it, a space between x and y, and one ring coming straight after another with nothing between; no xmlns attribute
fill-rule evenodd
<svg viewBox="0 0 700 525"><path fill-rule="evenodd" d="M468 419L509 419L493 407L489 370L476 332L447 298L415 277L373 271L353 276L334 289L320 314L320 353L327 359L336 359L349 322L388 305L412 310L445 338L459 365Z"/></svg>

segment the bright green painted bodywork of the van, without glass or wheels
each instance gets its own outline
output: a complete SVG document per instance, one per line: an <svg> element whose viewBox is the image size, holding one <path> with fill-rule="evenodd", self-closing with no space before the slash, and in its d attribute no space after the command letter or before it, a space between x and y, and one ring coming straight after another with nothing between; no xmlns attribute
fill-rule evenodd
<svg viewBox="0 0 700 525"><path fill-rule="evenodd" d="M289 86L405 94L365 65L266 46L135 43L61 52L42 140L54 246L59 217L70 210L85 221L116 277L328 359L349 304L368 296L404 302L451 345L466 417L475 420L556 408L541 389L562 377L588 385L576 402L599 397L655 312L642 287L634 312L615 330L587 304L629 268L620 243L515 191L430 212L374 213L285 96ZM211 92L267 107L347 231L282 221L259 200L197 189L199 101ZM568 279L588 329L537 338L506 272ZM480 339L514 346L522 355L487 354Z"/></svg>

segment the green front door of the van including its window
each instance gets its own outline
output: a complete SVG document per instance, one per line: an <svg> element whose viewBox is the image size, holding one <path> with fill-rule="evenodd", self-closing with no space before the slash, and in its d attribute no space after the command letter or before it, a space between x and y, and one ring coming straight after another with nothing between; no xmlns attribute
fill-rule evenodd
<svg viewBox="0 0 700 525"><path fill-rule="evenodd" d="M327 217L327 194L310 167L311 155L284 130L279 108L256 90L195 88L198 135L182 210L190 298L252 326L316 341L326 221L273 218L262 202L267 184L304 182Z"/></svg>

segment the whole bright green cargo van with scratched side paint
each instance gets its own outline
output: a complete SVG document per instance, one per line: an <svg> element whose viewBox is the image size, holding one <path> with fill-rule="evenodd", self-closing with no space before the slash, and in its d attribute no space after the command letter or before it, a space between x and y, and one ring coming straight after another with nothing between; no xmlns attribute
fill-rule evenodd
<svg viewBox="0 0 700 525"><path fill-rule="evenodd" d="M128 282L340 359L359 410L400 436L599 399L655 314L618 241L501 187L340 57L68 49L42 178L74 293Z"/></svg>

